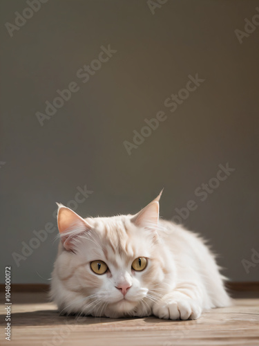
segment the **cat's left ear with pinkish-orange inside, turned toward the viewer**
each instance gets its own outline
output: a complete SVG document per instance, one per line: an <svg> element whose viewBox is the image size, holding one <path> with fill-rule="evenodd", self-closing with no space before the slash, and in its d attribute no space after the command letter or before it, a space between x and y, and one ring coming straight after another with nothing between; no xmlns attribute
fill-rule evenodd
<svg viewBox="0 0 259 346"><path fill-rule="evenodd" d="M68 251L73 251L75 238L91 228L90 224L76 212L57 203L57 226L61 236L61 242Z"/></svg>

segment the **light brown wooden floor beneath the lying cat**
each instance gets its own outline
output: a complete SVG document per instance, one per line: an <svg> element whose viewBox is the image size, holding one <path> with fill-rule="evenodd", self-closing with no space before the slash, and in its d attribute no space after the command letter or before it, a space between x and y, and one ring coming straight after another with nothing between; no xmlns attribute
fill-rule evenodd
<svg viewBox="0 0 259 346"><path fill-rule="evenodd" d="M1 332L0 345L259 345L259 299L233 302L233 307L207 311L198 320L75 319L59 316L45 293L12 293L12 340L4 340Z"/></svg>

